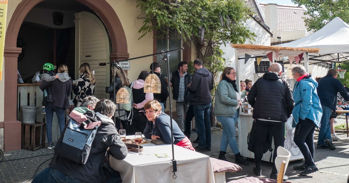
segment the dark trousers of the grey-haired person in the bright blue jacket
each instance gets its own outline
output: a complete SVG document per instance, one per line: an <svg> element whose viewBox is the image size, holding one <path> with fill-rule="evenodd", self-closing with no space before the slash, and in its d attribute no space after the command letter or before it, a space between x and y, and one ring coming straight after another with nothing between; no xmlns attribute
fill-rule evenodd
<svg viewBox="0 0 349 183"><path fill-rule="evenodd" d="M310 119L302 120L299 118L296 125L295 137L293 141L298 146L300 152L302 152L305 160L305 164L309 166L315 165L314 163L314 130L315 123Z"/></svg>

